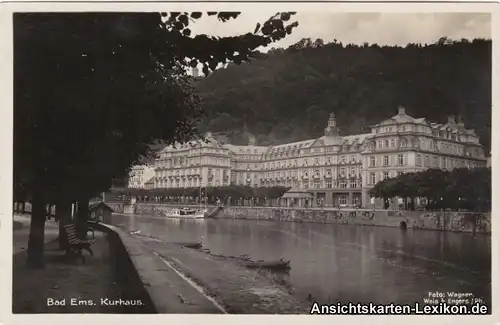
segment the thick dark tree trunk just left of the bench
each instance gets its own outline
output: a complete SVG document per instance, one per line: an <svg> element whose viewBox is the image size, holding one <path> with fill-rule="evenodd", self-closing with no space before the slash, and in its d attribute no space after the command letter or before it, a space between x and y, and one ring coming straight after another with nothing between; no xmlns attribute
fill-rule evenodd
<svg viewBox="0 0 500 325"><path fill-rule="evenodd" d="M43 246L45 243L45 197L44 189L35 180L33 199L31 201L31 224L28 240L28 258L26 264L30 268L43 268ZM38 183L38 184L37 184Z"/></svg>

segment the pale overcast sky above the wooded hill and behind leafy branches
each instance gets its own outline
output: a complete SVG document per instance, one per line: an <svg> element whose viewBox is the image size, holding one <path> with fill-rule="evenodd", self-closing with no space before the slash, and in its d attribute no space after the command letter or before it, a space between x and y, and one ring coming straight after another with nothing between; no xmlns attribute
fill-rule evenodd
<svg viewBox="0 0 500 325"><path fill-rule="evenodd" d="M213 16L193 24L194 34L232 36L253 32L257 22L264 22L274 12L242 12L229 22ZM305 37L334 39L346 44L378 43L406 45L433 43L440 37L451 39L491 38L491 16L487 13L318 13L298 12L293 16L299 26L286 39L270 47L288 47Z"/></svg>

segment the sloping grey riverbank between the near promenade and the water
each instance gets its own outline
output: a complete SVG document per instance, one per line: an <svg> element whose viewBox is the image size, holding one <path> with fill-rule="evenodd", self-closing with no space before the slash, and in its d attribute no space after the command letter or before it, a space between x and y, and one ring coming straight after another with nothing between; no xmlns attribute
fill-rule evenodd
<svg viewBox="0 0 500 325"><path fill-rule="evenodd" d="M155 238L135 237L160 258L167 269L174 269L185 283L209 300L220 313L309 313L310 303L294 297L284 285L228 258L212 256L200 250L183 248ZM138 271L141 273L141 269ZM169 277L166 273L165 280L170 282L172 275ZM184 297L181 292L179 295L180 300L189 301L189 296Z"/></svg>

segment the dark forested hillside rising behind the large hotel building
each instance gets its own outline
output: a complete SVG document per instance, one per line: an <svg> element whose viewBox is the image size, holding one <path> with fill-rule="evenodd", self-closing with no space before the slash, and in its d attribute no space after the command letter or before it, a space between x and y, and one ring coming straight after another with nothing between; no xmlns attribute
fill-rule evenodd
<svg viewBox="0 0 500 325"><path fill-rule="evenodd" d="M393 47L304 39L217 70L197 89L203 128L227 132L234 143L245 144L247 132L259 144L320 136L331 111L342 134L369 132L400 105L441 123L461 115L486 150L491 143L490 40Z"/></svg>

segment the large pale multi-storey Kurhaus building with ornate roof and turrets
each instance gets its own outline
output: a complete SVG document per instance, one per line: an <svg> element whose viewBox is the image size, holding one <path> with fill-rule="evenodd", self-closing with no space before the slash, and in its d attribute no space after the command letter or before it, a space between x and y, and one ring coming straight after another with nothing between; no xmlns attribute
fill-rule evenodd
<svg viewBox="0 0 500 325"><path fill-rule="evenodd" d="M224 144L211 134L207 140L164 148L155 161L154 187L287 186L327 206L367 206L369 189L382 179L487 161L475 131L463 122L450 116L446 124L432 123L403 107L366 134L340 136L332 113L317 139L273 146L253 139L246 146Z"/></svg>

